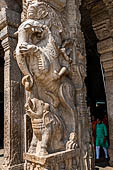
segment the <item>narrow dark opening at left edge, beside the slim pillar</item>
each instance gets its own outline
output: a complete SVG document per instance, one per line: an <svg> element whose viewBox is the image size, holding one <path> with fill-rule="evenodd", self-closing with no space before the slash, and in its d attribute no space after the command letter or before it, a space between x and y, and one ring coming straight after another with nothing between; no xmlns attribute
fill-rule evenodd
<svg viewBox="0 0 113 170"><path fill-rule="evenodd" d="M0 149L4 144L4 50L0 41Z"/></svg>

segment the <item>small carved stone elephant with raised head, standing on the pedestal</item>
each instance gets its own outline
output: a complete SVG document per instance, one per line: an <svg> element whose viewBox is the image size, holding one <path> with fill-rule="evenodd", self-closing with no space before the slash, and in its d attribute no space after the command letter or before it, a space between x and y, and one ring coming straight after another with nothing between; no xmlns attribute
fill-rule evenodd
<svg viewBox="0 0 113 170"><path fill-rule="evenodd" d="M50 112L49 104L36 98L29 98L25 108L31 118L33 132L37 141L36 155L42 156L63 150L63 122L57 115Z"/></svg>

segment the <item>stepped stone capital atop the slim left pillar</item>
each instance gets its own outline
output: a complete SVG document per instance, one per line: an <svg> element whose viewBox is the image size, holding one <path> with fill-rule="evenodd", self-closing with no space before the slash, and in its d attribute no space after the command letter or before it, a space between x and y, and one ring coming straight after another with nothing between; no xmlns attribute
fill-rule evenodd
<svg viewBox="0 0 113 170"><path fill-rule="evenodd" d="M11 49L13 44L11 38L15 38L14 33L20 23L20 14L7 8L2 8L0 11L0 39L4 51Z"/></svg>

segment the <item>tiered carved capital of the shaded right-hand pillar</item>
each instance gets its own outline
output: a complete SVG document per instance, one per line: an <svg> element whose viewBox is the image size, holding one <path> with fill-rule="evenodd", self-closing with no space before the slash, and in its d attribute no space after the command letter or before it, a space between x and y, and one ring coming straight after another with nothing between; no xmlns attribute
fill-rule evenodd
<svg viewBox="0 0 113 170"><path fill-rule="evenodd" d="M98 52L101 54L106 78L113 75L113 34L110 29L110 20L107 19L93 26L97 38L100 40L97 44Z"/></svg>

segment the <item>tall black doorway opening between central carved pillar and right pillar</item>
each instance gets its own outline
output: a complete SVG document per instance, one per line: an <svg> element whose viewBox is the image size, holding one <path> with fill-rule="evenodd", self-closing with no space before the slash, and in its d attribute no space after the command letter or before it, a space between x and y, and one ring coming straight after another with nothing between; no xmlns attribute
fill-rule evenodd
<svg viewBox="0 0 113 170"><path fill-rule="evenodd" d="M100 62L100 54L97 51L98 38L92 27L92 20L86 7L80 7L81 29L85 38L87 77L85 80L87 88L87 105L90 107L91 117L95 120L101 119L107 127L109 141L109 125L107 118L107 104L105 92L104 69ZM92 122L93 122L92 121ZM96 148L96 126L95 136L93 136ZM103 157L103 150L100 157ZM103 160L103 158L102 158Z"/></svg>

